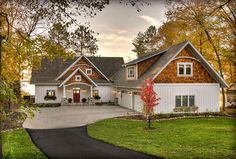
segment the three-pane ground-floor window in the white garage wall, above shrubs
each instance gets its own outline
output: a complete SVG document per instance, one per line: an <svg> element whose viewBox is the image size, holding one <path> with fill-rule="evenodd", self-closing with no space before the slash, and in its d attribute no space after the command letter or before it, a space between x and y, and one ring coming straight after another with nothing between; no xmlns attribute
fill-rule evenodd
<svg viewBox="0 0 236 159"><path fill-rule="evenodd" d="M195 96L194 95L177 95L175 96L175 106L194 106L195 105Z"/></svg>

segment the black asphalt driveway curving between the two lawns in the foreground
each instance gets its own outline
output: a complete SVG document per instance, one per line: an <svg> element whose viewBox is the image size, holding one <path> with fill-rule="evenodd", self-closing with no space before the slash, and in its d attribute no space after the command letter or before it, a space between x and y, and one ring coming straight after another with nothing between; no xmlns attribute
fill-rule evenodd
<svg viewBox="0 0 236 159"><path fill-rule="evenodd" d="M27 129L27 132L32 141L50 159L159 159L156 156L93 139L88 136L86 126L44 130Z"/></svg>

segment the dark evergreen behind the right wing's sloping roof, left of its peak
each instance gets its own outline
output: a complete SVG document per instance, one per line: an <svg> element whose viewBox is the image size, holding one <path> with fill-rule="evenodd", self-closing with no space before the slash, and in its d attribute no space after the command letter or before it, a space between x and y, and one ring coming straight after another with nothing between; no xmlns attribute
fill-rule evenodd
<svg viewBox="0 0 236 159"><path fill-rule="evenodd" d="M132 44L134 49L132 50L137 56L142 56L147 52L155 51L157 48L157 29L151 25L144 33L139 32L137 37L133 40Z"/></svg>

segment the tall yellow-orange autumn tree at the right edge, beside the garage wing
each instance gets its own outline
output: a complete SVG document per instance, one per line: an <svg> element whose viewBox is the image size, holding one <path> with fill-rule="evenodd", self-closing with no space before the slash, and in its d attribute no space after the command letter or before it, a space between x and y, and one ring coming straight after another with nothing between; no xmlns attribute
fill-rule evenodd
<svg viewBox="0 0 236 159"><path fill-rule="evenodd" d="M235 13L231 12L231 7L235 7L235 1L173 1L167 11L167 19L181 21L185 25L192 25L201 30L201 35L205 37L212 51L211 58L215 60L215 67L220 76L225 79L227 75L227 62L235 60L227 58L228 54L235 55ZM231 6L224 8L224 6ZM223 13L213 14L215 10L222 9ZM226 15L222 16L222 14ZM231 18L232 17L232 18ZM227 20L226 20L227 19ZM227 37L227 38L226 38ZM232 57L232 56L229 56ZM228 61L227 61L228 59ZM226 60L224 62L224 60ZM214 63L213 63L214 64ZM235 69L235 68L234 68ZM230 76L232 76L231 74ZM228 79L230 79L228 77ZM221 89L223 99L223 111L225 109L225 90Z"/></svg>

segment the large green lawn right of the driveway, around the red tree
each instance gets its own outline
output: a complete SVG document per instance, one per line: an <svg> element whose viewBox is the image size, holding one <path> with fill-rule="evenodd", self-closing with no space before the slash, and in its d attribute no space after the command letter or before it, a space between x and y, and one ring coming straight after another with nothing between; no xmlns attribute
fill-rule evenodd
<svg viewBox="0 0 236 159"><path fill-rule="evenodd" d="M88 127L90 136L164 158L235 158L236 119L189 118L147 123L108 119Z"/></svg>

